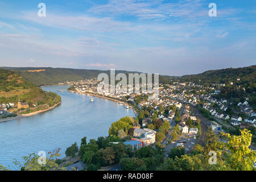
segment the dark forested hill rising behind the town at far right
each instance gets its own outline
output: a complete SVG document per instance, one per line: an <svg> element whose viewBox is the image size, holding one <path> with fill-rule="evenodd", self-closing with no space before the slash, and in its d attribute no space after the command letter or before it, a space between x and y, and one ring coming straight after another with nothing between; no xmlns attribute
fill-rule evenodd
<svg viewBox="0 0 256 182"><path fill-rule="evenodd" d="M247 82L255 82L256 78L256 65L243 68L228 68L210 70L197 75L185 75L181 77L182 81L185 82L196 82L197 84L216 83L216 84L227 84L229 82L235 82L240 79L241 84Z"/></svg>

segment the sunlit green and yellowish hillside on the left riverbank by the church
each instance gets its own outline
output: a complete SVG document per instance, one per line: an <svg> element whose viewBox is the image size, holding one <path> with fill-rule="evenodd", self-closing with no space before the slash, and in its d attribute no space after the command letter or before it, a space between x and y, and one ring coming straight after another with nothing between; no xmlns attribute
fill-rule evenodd
<svg viewBox="0 0 256 182"><path fill-rule="evenodd" d="M27 102L28 109L18 110L16 106L19 98L21 101ZM56 93L38 88L13 71L0 69L0 104L14 103L15 106L10 108L11 112L32 113L48 109L60 100L60 96Z"/></svg>

